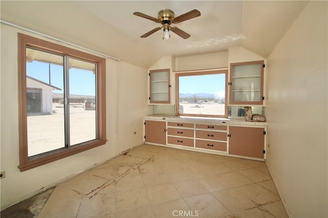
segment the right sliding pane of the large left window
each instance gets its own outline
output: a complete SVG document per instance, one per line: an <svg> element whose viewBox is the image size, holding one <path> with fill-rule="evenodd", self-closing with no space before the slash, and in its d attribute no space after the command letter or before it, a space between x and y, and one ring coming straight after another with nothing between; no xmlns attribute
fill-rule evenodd
<svg viewBox="0 0 328 218"><path fill-rule="evenodd" d="M69 58L70 145L96 139L96 64Z"/></svg>

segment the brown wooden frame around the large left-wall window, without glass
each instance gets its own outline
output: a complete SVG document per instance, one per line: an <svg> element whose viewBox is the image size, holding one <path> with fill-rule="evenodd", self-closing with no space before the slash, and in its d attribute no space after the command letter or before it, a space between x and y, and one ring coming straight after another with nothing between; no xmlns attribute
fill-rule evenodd
<svg viewBox="0 0 328 218"><path fill-rule="evenodd" d="M79 152L106 144L106 59L92 54L57 45L43 39L18 33L18 135L20 171L26 171L53 161L57 161ZM97 135L96 139L83 142L68 148L60 148L43 154L28 157L27 108L26 108L26 48L35 48L68 55L80 60L94 62L96 69L96 101L97 101Z"/></svg>

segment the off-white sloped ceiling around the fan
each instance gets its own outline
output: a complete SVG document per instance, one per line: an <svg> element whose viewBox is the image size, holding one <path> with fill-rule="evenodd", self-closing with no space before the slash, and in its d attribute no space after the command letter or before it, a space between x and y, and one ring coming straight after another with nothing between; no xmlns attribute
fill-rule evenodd
<svg viewBox="0 0 328 218"><path fill-rule="evenodd" d="M161 56L188 56L242 46L267 57L302 11L306 1L1 1L1 19L149 68ZM191 35L162 31L140 36L160 24L157 18L193 9L201 16L171 25Z"/></svg>

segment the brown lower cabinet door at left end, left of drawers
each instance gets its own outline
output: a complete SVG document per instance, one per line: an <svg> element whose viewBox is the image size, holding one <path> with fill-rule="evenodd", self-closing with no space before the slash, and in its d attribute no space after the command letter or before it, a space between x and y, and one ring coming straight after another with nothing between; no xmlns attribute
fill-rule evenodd
<svg viewBox="0 0 328 218"><path fill-rule="evenodd" d="M166 122L162 121L145 121L145 141L157 144L166 144Z"/></svg>

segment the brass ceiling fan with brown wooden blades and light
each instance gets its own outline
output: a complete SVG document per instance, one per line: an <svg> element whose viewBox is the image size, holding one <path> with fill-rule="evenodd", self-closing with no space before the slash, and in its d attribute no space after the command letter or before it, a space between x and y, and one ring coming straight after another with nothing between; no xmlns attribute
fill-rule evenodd
<svg viewBox="0 0 328 218"><path fill-rule="evenodd" d="M136 16L144 17L146 19L150 19L155 21L156 23L160 23L161 27L156 27L155 29L149 31L148 33L145 33L144 35L140 36L141 38L146 38L147 36L150 36L151 34L157 32L158 30L163 28L163 39L169 39L170 38L170 31L174 32L175 34L179 35L180 37L187 39L190 37L188 33L185 31L180 30L177 27L171 27L171 24L178 24L182 21L192 19L195 17L200 16L200 12L196 9L191 10L185 14L181 14L177 17L174 17L174 12L170 9L164 9L158 12L158 18L149 16L147 14L141 13L141 12L134 12L133 13Z"/></svg>

